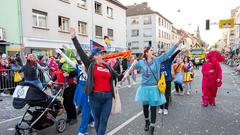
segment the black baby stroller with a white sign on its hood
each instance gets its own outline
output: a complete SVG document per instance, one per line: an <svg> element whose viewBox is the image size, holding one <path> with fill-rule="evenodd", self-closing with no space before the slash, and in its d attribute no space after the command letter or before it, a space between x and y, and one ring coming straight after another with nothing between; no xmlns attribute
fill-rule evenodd
<svg viewBox="0 0 240 135"><path fill-rule="evenodd" d="M46 129L56 125L58 133L66 130L66 120L56 119L60 109L63 108L61 102L57 99L64 90L62 87L53 97L47 95L44 90L31 83L21 83L13 94L13 107L22 109L28 105L20 122L16 125L16 135L37 134L37 130Z"/></svg>

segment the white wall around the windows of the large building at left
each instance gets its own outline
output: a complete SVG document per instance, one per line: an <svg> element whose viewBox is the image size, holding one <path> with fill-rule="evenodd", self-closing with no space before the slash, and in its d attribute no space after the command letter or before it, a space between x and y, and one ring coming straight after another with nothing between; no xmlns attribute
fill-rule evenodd
<svg viewBox="0 0 240 135"><path fill-rule="evenodd" d="M87 36L78 35L81 44L89 45L90 39L104 45L104 39L95 38L95 25L103 27L103 37L107 35L107 28L113 29L113 47L126 47L126 10L106 0L97 0L102 4L102 15L97 15L94 0L87 0L87 9L77 6L77 0L65 3L60 0L22 0L23 36L26 47L59 48L63 44L72 45L70 34L59 32L58 16L70 18L70 27L77 31L78 21L87 23ZM54 8L53 8L54 6ZM113 9L113 19L107 18L107 6ZM47 13L48 30L32 27L32 9ZM93 20L92 20L93 18Z"/></svg>

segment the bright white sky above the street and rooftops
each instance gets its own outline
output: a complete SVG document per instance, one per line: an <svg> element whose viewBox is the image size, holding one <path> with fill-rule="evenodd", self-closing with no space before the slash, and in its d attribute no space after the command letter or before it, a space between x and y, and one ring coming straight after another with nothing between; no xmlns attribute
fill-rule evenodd
<svg viewBox="0 0 240 135"><path fill-rule="evenodd" d="M148 2L155 11L168 18L177 28L195 32L197 26L203 40L212 45L220 38L224 30L218 25L211 25L210 30L205 30L205 20L219 22L221 19L231 17L231 9L240 6L240 0L119 0L124 5ZM181 12L177 12L180 9Z"/></svg>

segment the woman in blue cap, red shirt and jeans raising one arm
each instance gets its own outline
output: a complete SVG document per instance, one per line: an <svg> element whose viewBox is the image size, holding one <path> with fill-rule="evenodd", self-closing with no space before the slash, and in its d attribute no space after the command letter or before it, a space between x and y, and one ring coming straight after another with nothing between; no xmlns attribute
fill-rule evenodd
<svg viewBox="0 0 240 135"><path fill-rule="evenodd" d="M96 133L104 135L112 109L112 98L114 98L113 81L116 81L119 74L103 60L105 50L93 48L91 56L88 57L76 38L75 29L71 28L70 34L77 53L87 69L88 78L84 92L89 96Z"/></svg>

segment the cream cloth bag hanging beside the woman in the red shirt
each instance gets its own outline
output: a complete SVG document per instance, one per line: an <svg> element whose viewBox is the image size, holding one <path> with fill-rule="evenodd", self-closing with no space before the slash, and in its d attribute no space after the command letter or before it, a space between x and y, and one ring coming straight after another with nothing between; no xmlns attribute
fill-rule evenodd
<svg viewBox="0 0 240 135"><path fill-rule="evenodd" d="M120 96L119 96L118 87L115 87L114 95L115 95L115 98L112 99L111 113L118 114L118 113L121 113L121 100L120 100Z"/></svg>

